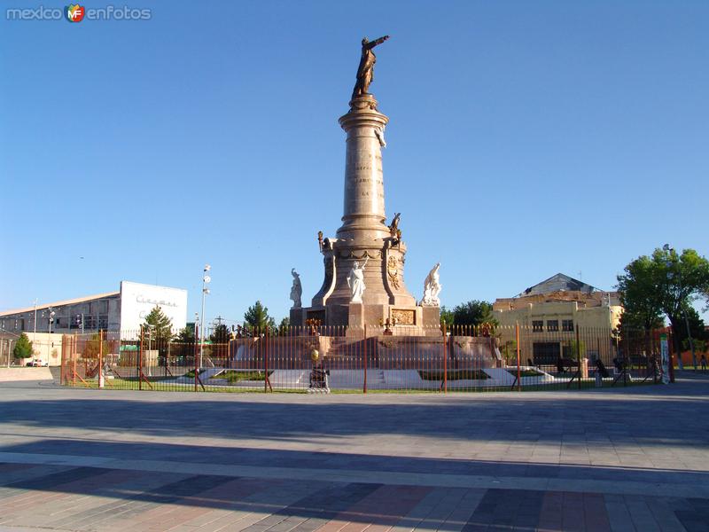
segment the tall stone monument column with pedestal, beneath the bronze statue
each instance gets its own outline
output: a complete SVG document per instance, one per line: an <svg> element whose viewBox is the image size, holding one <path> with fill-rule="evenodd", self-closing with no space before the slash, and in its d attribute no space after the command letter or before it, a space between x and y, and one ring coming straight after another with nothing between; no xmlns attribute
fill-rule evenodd
<svg viewBox="0 0 709 532"><path fill-rule="evenodd" d="M305 312L323 316L327 325L379 325L399 316L401 321L408 317L412 329L420 328L421 309L403 279L406 246L386 225L382 147L389 119L371 94L353 98L349 106L339 118L347 133L342 225L335 239L321 243L325 278ZM366 262L361 303L351 302L347 286L354 262L360 267Z"/></svg>

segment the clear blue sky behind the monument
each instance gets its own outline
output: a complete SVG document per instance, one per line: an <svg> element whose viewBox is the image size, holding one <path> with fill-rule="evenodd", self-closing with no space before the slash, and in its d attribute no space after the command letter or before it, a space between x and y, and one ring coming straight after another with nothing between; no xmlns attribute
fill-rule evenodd
<svg viewBox="0 0 709 532"><path fill-rule="evenodd" d="M709 3L126 5L151 20L3 9L0 309L127 279L188 289L189 319L205 262L210 320L286 316L292 267L309 301L363 35L392 37L370 91L417 297L439 261L454 306L709 254Z"/></svg>

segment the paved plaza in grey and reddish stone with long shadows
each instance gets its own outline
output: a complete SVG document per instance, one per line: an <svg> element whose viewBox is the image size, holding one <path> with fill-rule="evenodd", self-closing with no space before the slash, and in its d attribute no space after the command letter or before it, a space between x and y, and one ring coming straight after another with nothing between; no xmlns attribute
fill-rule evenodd
<svg viewBox="0 0 709 532"><path fill-rule="evenodd" d="M709 381L467 395L0 385L0 529L709 530Z"/></svg>

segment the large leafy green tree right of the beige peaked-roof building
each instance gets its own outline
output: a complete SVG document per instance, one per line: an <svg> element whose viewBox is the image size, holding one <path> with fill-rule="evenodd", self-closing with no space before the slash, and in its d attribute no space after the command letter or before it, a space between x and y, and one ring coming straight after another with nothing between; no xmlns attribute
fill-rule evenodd
<svg viewBox="0 0 709 532"><path fill-rule="evenodd" d="M648 327L658 316L667 317L679 352L691 303L699 298L709 303L709 261L693 249L677 254L671 248L657 248L650 257L643 255L626 266L618 277L618 290L629 319Z"/></svg>

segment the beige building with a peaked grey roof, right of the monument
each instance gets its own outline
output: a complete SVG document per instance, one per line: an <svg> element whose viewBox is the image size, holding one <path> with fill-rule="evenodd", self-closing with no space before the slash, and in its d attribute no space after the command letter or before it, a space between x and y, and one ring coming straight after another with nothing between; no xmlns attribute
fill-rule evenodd
<svg viewBox="0 0 709 532"><path fill-rule="evenodd" d="M581 356L589 363L600 357L610 364L616 351L612 331L622 310L617 292L599 290L562 273L493 304L501 345L511 345L518 324L521 361L534 365L557 364L560 356L575 358L577 334Z"/></svg>

